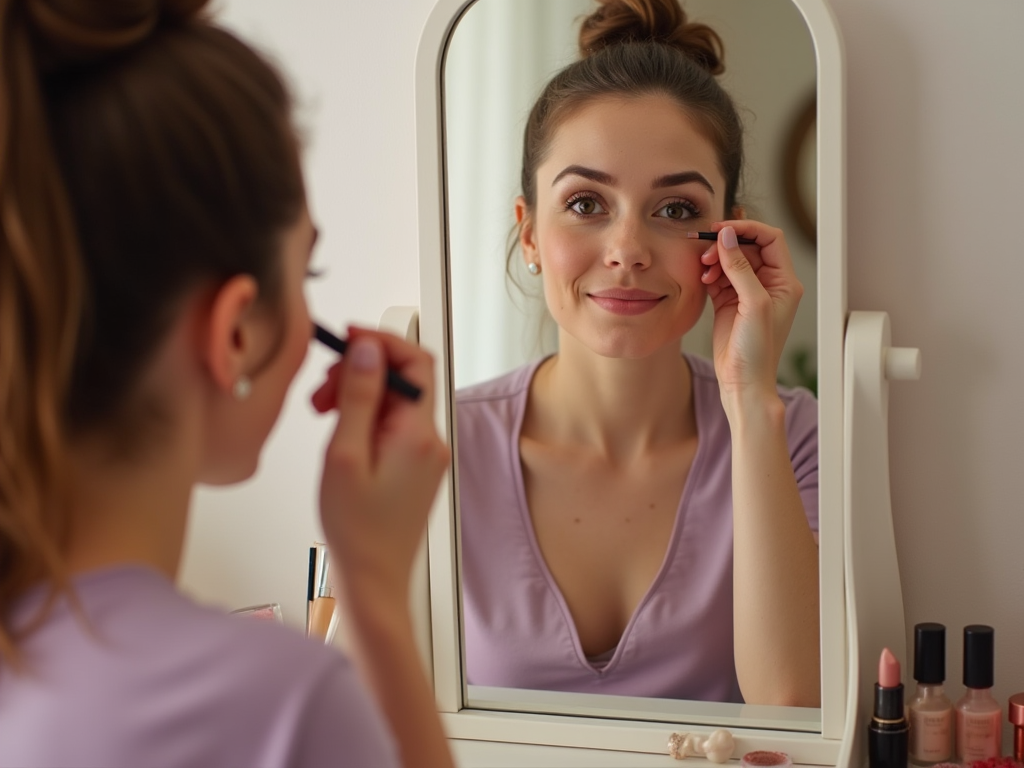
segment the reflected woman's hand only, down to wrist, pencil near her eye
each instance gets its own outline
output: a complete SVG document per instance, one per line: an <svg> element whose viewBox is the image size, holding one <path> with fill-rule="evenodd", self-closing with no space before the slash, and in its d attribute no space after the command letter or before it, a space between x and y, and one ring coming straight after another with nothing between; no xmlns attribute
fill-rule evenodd
<svg viewBox="0 0 1024 768"><path fill-rule="evenodd" d="M712 343L723 397L774 392L782 346L804 287L781 229L738 219L712 226L718 241L700 257L715 308ZM736 236L757 241L739 246Z"/></svg>

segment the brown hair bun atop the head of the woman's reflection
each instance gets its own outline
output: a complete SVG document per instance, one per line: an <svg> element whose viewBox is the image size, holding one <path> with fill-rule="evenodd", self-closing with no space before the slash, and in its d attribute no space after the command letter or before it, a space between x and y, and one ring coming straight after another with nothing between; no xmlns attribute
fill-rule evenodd
<svg viewBox="0 0 1024 768"><path fill-rule="evenodd" d="M652 41L671 45L712 75L725 72L722 39L706 24L689 22L677 0L599 0L580 28L580 54L616 43Z"/></svg>

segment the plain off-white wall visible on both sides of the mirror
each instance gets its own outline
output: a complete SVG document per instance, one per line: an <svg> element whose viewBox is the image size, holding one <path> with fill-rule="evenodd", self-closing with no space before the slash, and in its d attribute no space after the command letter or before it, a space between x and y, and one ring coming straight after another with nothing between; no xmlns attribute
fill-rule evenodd
<svg viewBox="0 0 1024 768"><path fill-rule="evenodd" d="M996 694L1024 691L1024 3L831 0L846 40L849 295L920 346L892 390L893 511L908 625L996 629ZM232 0L228 19L287 62L312 129L325 230L312 291L329 323L415 304L413 69L431 0ZM197 500L182 583L298 621L326 423L311 355L247 486ZM1009 735L1009 729L1005 728ZM1005 739L1006 743L1009 743Z"/></svg>

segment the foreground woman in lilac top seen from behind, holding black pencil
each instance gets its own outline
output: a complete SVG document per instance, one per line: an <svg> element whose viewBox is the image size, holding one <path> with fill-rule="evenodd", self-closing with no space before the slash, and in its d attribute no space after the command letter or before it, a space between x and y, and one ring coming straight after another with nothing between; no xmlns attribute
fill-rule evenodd
<svg viewBox="0 0 1024 768"><path fill-rule="evenodd" d="M174 588L193 488L252 475L312 330L288 93L203 6L0 0L0 764L452 765L407 611L426 353L353 330L314 395L354 665Z"/></svg>

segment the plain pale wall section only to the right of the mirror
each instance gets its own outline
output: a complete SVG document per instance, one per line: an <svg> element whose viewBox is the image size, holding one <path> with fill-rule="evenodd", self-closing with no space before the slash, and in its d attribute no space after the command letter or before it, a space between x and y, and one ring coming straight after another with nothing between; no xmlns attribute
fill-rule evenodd
<svg viewBox="0 0 1024 768"><path fill-rule="evenodd" d="M846 39L849 293L920 346L893 386L893 515L908 629L995 627L1024 691L1024 3L833 0ZM912 647L912 646L908 646ZM1004 725L1004 743L1009 729Z"/></svg>

